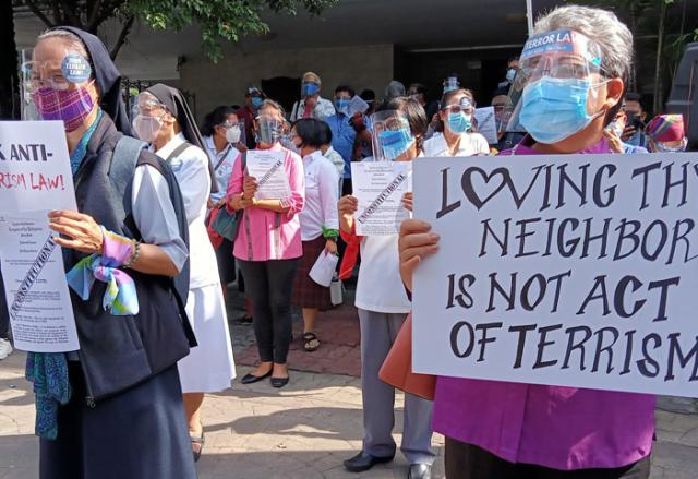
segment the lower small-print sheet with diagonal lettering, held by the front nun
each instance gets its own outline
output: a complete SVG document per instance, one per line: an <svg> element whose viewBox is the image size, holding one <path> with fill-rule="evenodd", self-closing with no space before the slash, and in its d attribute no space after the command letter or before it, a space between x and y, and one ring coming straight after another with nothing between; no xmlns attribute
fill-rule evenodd
<svg viewBox="0 0 698 479"><path fill-rule="evenodd" d="M33 352L77 350L61 249L51 240L46 213L23 215L0 215L0 259L14 346Z"/></svg>

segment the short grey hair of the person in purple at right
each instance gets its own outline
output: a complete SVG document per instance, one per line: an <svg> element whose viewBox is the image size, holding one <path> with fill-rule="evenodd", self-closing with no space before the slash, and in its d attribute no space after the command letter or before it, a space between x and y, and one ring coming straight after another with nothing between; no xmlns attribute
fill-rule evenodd
<svg viewBox="0 0 698 479"><path fill-rule="evenodd" d="M601 67L606 75L627 81L633 65L633 34L607 10L580 5L557 7L535 21L533 35L567 28L578 32L601 48Z"/></svg>

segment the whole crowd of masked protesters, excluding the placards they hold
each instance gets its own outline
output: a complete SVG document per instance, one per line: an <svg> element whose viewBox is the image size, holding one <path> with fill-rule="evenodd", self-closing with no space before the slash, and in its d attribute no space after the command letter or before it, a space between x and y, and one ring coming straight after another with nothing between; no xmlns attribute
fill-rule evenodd
<svg viewBox="0 0 698 479"><path fill-rule="evenodd" d="M412 274L438 237L419 218L400 235L358 236L351 164L686 148L681 116L648 120L641 97L627 92L633 35L613 13L561 7L533 35L556 31L573 33L574 52L513 58L493 85L496 144L478 132L477 100L455 74L433 101L423 85L398 81L382 98L349 85L324 98L321 77L308 72L290 112L251 86L242 108L220 106L200 128L183 95L164 84L142 92L128 115L120 73L97 37L72 27L40 35L27 85L38 112L58 109L65 123L81 205L52 212L49 225L67 270L118 268L137 291L137 308L123 311L99 308L101 295L73 294L81 350L28 355L40 477L196 477L204 395L236 375L228 285L244 285L258 351L241 383L269 379L281 388L293 307L302 348L322 347L316 325L330 291L309 273L323 253L341 255L342 275L358 275L364 438L345 467L393 460L395 388L378 371L411 310ZM89 65L84 81L61 71L75 55ZM281 154L287 197L255 194L253 151ZM118 161L131 161L125 192L110 180ZM412 201L407 193L402 207ZM213 226L219 217L238 226L233 237ZM12 348L1 299L3 359ZM446 436L448 478L648 478L653 414L650 395L438 378L433 402L406 394L400 448L411 479L431 477L433 432Z"/></svg>

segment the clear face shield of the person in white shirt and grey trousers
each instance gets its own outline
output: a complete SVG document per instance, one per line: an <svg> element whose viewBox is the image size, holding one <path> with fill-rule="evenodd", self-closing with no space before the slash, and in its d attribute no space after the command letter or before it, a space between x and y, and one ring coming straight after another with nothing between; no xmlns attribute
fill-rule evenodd
<svg viewBox="0 0 698 479"><path fill-rule="evenodd" d="M373 157L377 161L400 159L414 144L407 117L399 110L378 111L371 116Z"/></svg>

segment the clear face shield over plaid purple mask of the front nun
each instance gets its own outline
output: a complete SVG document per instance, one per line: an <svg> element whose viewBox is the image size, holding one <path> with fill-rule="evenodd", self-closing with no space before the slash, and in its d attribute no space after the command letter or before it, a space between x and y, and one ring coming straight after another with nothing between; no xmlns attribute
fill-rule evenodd
<svg viewBox="0 0 698 479"><path fill-rule="evenodd" d="M68 49L48 48L49 40L22 51L20 67L22 119L62 121L79 129L95 110L89 60Z"/></svg>

